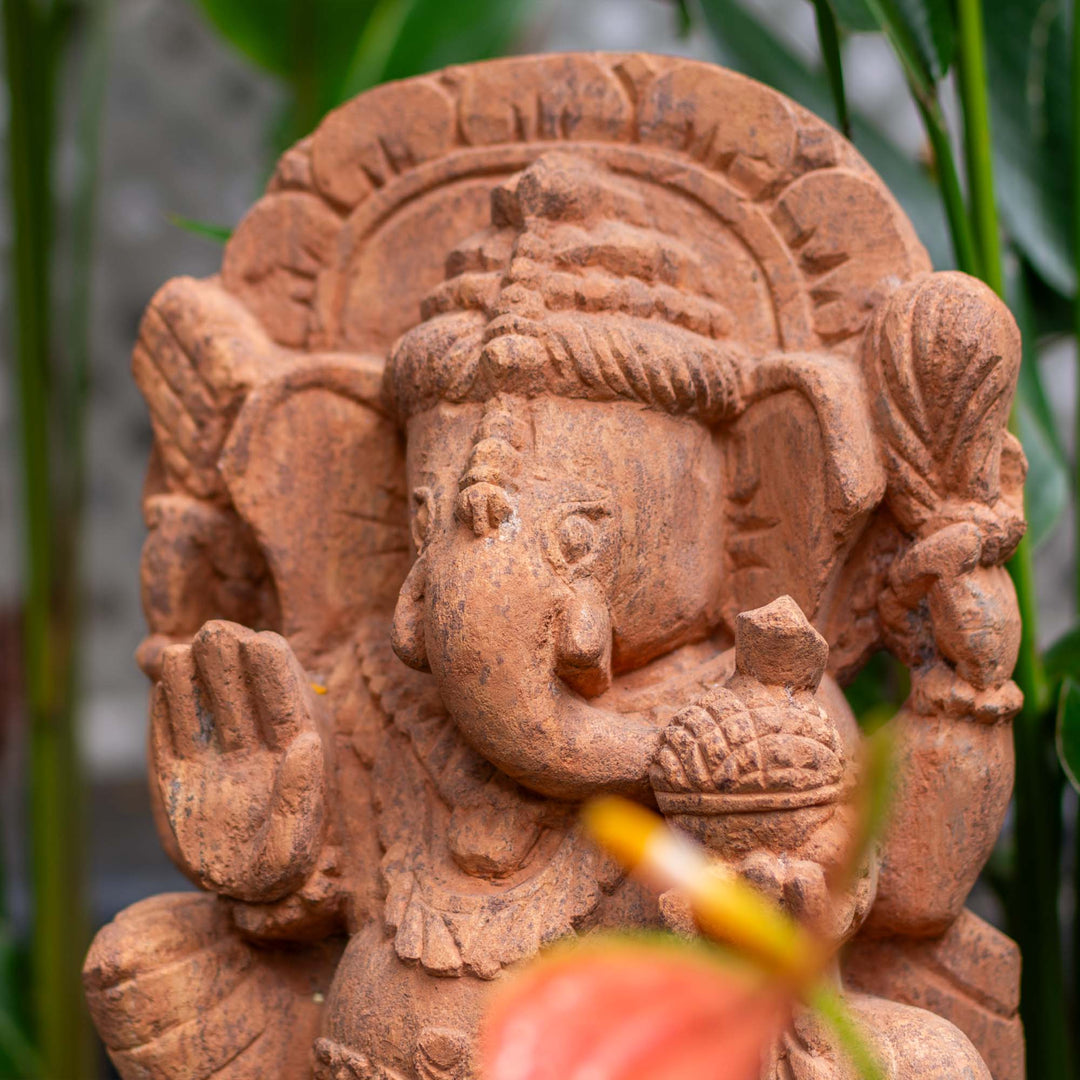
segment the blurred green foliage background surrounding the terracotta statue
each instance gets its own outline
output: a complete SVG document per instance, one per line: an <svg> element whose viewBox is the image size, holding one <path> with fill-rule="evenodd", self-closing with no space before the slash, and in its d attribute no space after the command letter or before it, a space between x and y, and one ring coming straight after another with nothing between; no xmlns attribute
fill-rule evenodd
<svg viewBox="0 0 1080 1080"><path fill-rule="evenodd" d="M760 79L835 122L903 203L935 266L959 267L1007 297L1025 342L1013 421L1030 464L1030 528L1012 571L1026 632L1016 677L1027 703L1015 725L1013 814L981 889L1024 950L1029 1075L1072 1075L1078 1048L1070 1041L1080 1031L1080 831L1070 792L1080 774L1080 582L1075 595L1036 589L1037 578L1072 579L1071 567L1050 576L1040 562L1075 563L1067 537L1080 515L1076 421L1061 423L1076 413L1055 400L1061 379L1047 380L1052 368L1059 373L1063 354L1075 352L1080 325L1080 27L1071 3L577 0L579 18L590 8L607 13L588 41L567 32L583 25L572 19L558 24L562 37L552 31L546 0L191 3L222 50L249 66L243 93L271 102L260 111L264 130L230 136L237 152L258 159L259 175L328 109L388 79L505 52L666 45ZM0 545L0 558L14 567L12 600L0 611L0 783L8 780L0 802L0 1077L81 1078L102 1068L78 983L92 924L113 914L91 909L85 880L80 713L90 669L103 658L84 630L94 584L84 548L96 417L125 366L92 354L92 286L110 283L95 237L102 197L110 195L100 177L116 178L102 157L102 130L109 80L121 67L116 27L133 6L3 0L9 341L0 405L9 419L3 424L0 413L0 428L11 437L3 457L17 482L4 486L0 476L0 492L15 503L3 516L14 523L17 550ZM665 29L658 37L659 24ZM638 37L624 26L637 27ZM889 68L894 89L904 87L915 138L897 137L880 108L865 107L858 87L866 85L867 55ZM856 67L861 77L852 79ZM188 91L197 95L193 83ZM201 161L195 153L192 175ZM178 200L165 210L199 239L174 229L168 243L212 251L235 224L234 207L255 195L234 197L224 179L208 179L221 186L213 218L192 221ZM116 187L121 198L129 192L123 177ZM132 220L146 214L137 198L124 211ZM145 282L132 336L137 310L159 283ZM1075 377L1071 384L1075 393ZM132 456L141 468L145 450ZM134 504L137 491L125 498ZM134 589L135 566L124 572ZM122 652L104 662L130 664ZM903 673L879 663L850 697L861 714L878 716L895 707L904 686ZM136 809L141 821L145 806ZM137 849L141 841L130 842Z"/></svg>

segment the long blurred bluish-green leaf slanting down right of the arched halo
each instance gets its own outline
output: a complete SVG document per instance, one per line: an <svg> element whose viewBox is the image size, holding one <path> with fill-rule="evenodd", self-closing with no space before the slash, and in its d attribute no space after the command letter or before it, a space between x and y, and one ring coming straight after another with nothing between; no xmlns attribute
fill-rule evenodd
<svg viewBox="0 0 1080 1080"><path fill-rule="evenodd" d="M818 116L828 116L832 99L823 72L802 63L738 0L701 0L705 24L721 63L775 86ZM930 174L858 113L851 118L853 141L912 219L939 270L953 267L941 197Z"/></svg>

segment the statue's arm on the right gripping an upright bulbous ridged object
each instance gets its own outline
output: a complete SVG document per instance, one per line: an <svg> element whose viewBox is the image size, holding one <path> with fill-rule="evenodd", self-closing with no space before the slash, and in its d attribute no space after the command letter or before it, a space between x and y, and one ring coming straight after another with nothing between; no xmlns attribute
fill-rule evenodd
<svg viewBox="0 0 1080 1080"><path fill-rule="evenodd" d="M907 538L878 612L912 672L868 924L930 935L962 909L1012 792L1021 625L1003 564L1023 535L1024 465L1005 421L1020 338L989 289L947 273L893 294L864 350L886 501Z"/></svg>

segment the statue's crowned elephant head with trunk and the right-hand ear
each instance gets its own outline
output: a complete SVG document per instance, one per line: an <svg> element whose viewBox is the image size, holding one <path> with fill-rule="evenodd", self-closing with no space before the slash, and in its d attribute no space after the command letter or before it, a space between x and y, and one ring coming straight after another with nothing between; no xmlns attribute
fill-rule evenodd
<svg viewBox="0 0 1080 1080"><path fill-rule="evenodd" d="M417 552L394 648L526 786L642 794L734 616L815 611L885 470L851 366L741 341L639 188L552 153L491 206L387 368Z"/></svg>

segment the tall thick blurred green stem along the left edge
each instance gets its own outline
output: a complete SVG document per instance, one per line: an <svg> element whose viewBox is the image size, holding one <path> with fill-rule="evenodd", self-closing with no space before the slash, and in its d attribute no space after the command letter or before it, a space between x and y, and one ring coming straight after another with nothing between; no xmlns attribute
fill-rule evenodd
<svg viewBox="0 0 1080 1080"><path fill-rule="evenodd" d="M75 608L60 544L70 515L57 514L64 441L56 431L57 342L53 324L52 151L62 12L5 0L4 58L10 103L15 356L25 518L24 672L29 723L29 837L33 929L32 1015L41 1076L92 1075L79 983L85 949L80 784L73 725Z"/></svg>

